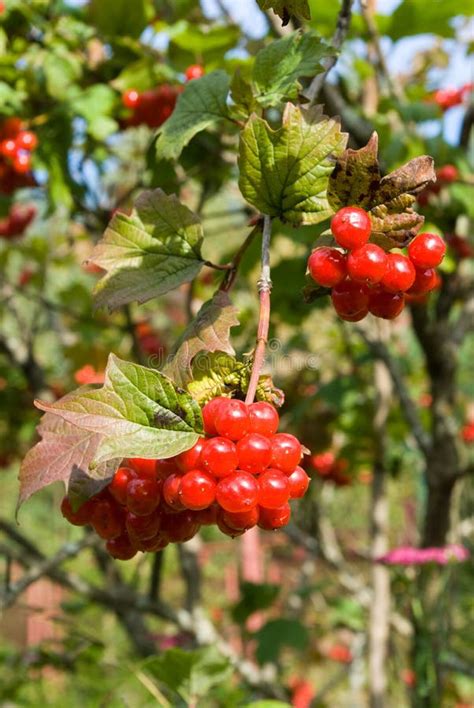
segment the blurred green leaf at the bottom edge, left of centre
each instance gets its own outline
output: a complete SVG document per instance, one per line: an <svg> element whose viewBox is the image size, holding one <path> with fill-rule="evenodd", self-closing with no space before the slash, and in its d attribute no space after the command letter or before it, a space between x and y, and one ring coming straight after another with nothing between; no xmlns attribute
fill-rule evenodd
<svg viewBox="0 0 474 708"><path fill-rule="evenodd" d="M207 699L215 687L233 675L229 660L211 646L194 651L169 649L143 666L147 673L178 693L186 703L193 704L199 699Z"/></svg>

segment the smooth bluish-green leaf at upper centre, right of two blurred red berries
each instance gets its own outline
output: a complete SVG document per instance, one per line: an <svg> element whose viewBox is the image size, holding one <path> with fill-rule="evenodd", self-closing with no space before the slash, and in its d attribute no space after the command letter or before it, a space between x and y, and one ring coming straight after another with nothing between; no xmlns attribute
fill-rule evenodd
<svg viewBox="0 0 474 708"><path fill-rule="evenodd" d="M228 117L229 85L225 71L212 71L186 85L170 118L158 131L158 159L176 159L197 133Z"/></svg>

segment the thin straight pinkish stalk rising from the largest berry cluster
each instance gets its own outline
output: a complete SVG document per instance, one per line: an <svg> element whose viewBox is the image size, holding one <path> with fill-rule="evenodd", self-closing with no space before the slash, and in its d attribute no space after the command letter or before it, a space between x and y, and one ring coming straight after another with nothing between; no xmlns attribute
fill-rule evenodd
<svg viewBox="0 0 474 708"><path fill-rule="evenodd" d="M265 360L265 349L268 342L268 330L270 327L270 292L272 281L270 277L270 238L272 235L272 220L268 215L263 217L262 231L262 267L258 280L258 292L260 297L260 312L258 317L257 346L253 357L252 373L250 375L249 387L245 397L247 405L252 403L257 391L258 379Z"/></svg>

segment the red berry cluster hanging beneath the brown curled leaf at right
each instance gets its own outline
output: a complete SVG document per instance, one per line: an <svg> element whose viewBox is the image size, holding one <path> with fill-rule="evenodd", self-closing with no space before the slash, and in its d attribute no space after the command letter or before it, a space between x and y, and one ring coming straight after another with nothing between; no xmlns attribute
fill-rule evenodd
<svg viewBox="0 0 474 708"><path fill-rule="evenodd" d="M331 231L339 248L316 248L309 257L313 280L332 288L331 299L341 319L358 322L369 312L394 319L405 297L424 296L438 285L435 271L446 252L436 234L418 234L408 246L408 257L387 253L369 243L370 217L359 207L344 207L333 216Z"/></svg>

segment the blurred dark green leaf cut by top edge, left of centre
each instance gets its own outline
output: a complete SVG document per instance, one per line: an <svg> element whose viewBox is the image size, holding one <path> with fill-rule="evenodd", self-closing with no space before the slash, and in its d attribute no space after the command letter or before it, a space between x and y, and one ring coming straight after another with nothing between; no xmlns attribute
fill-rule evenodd
<svg viewBox="0 0 474 708"><path fill-rule="evenodd" d="M147 25L147 0L91 0L91 21L106 35L138 37Z"/></svg>

